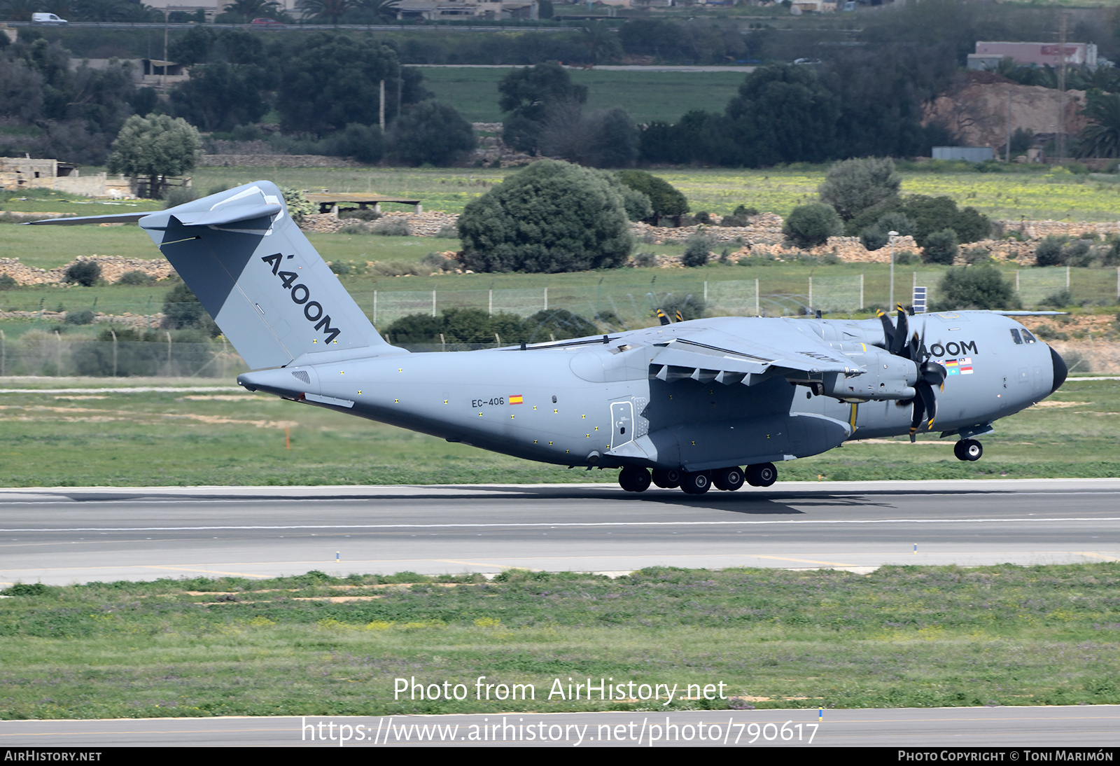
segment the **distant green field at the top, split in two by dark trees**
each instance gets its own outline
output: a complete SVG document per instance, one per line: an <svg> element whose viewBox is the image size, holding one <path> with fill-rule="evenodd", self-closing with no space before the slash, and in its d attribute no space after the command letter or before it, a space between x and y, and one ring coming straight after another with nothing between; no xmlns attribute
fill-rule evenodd
<svg viewBox="0 0 1120 766"><path fill-rule="evenodd" d="M469 122L501 122L497 84L517 67L424 66L423 86ZM586 85L585 110L622 106L634 122L676 122L691 110L722 112L746 78L743 72L610 72L571 69Z"/></svg>

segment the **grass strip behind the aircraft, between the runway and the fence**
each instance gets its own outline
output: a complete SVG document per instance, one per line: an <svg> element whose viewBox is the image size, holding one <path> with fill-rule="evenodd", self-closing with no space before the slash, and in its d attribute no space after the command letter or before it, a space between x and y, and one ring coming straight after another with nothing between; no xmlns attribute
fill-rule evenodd
<svg viewBox="0 0 1120 766"><path fill-rule="evenodd" d="M0 380L10 389L142 386L146 379ZM223 381L158 381L214 385ZM221 392L0 394L0 486L566 483L617 479L487 452L352 415L231 387ZM849 442L780 466L780 478L934 479L1120 476L1120 384L1068 381L1000 420L984 457L952 439ZM290 449L286 448L286 433Z"/></svg>

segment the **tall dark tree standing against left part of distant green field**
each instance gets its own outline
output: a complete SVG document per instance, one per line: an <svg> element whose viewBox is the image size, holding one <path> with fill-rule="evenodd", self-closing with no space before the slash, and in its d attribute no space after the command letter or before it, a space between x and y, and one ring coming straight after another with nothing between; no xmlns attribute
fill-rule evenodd
<svg viewBox="0 0 1120 766"><path fill-rule="evenodd" d="M498 108L510 115L504 121L502 140L520 151L535 153L541 128L551 106L587 101L587 87L573 85L568 71L556 62L514 69L497 85Z"/></svg>

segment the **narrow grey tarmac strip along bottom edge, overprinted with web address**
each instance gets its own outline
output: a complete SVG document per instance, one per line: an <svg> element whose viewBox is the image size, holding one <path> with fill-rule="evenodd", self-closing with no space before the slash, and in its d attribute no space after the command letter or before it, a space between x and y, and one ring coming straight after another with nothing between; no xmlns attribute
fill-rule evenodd
<svg viewBox="0 0 1120 766"><path fill-rule="evenodd" d="M1120 745L1118 721L1120 709L1104 704L0 721L0 749L64 747L96 751L101 747L131 746L861 746L932 747L936 757L925 755L921 760L979 760L981 758L968 756L973 748L998 747L1007 748L1002 756L996 754L983 759L1006 764L1016 760L1080 760L1084 754L1072 751L1088 748L1109 748L1111 751ZM487 726L492 728L487 729ZM1014 755L1011 748L1015 748ZM1024 751L1023 748L1029 750ZM1063 755L1038 753L1039 748L1062 748ZM1046 755L1049 757L1046 758ZM904 760L897 757L896 751L886 756L890 763Z"/></svg>

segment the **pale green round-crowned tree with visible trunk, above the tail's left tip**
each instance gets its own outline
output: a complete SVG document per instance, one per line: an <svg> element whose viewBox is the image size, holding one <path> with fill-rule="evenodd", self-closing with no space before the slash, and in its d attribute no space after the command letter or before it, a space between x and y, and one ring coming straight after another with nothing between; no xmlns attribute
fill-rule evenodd
<svg viewBox="0 0 1120 766"><path fill-rule="evenodd" d="M146 176L148 194L162 196L168 176L180 176L202 158L198 131L183 118L133 114L113 141L109 171Z"/></svg>

